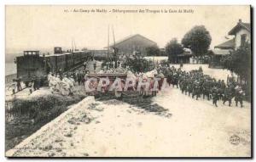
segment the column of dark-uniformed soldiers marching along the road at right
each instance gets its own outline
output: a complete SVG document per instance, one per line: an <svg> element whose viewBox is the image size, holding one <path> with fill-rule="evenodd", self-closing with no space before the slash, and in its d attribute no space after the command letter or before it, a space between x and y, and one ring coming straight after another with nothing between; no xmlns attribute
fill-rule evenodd
<svg viewBox="0 0 256 162"><path fill-rule="evenodd" d="M236 106L240 103L243 107L242 100L245 93L236 81L231 80L227 84L224 81L216 80L209 75L204 75L202 69L183 71L180 68L162 68L166 75L169 85L179 87L182 93L189 95L196 100L198 98L212 99L212 103L218 107L218 100L223 103L229 102L231 106L232 98L235 98Z"/></svg>

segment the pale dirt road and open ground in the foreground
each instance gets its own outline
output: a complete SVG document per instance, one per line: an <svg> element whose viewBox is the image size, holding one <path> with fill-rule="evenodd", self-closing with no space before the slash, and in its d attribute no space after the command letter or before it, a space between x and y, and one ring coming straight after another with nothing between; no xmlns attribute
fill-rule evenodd
<svg viewBox="0 0 256 162"><path fill-rule="evenodd" d="M92 157L250 156L249 103L242 109L222 103L215 108L207 100L196 101L171 87L158 94L154 103L169 109L172 116L155 115L115 100L96 102L72 110L58 127L45 131L46 137L43 134L33 137L22 144L26 148L13 153ZM234 136L239 139L230 141Z"/></svg>

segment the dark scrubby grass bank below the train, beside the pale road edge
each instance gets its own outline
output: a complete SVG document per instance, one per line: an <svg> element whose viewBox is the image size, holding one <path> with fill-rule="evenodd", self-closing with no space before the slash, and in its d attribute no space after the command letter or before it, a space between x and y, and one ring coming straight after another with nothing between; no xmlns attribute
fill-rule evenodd
<svg viewBox="0 0 256 162"><path fill-rule="evenodd" d="M15 147L50 120L61 115L69 105L78 103L83 98L85 95L48 95L30 99L16 98L11 101L12 107L6 110L6 114L12 118L5 118L6 150Z"/></svg>

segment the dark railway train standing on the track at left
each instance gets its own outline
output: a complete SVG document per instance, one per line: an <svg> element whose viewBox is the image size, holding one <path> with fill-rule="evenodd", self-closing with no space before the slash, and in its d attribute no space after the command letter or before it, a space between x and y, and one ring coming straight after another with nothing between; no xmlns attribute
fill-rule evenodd
<svg viewBox="0 0 256 162"><path fill-rule="evenodd" d="M40 51L24 51L22 56L15 58L17 80L28 86L33 78L44 81L49 72L58 73L73 70L84 61L92 59L90 51L67 50L55 47L53 54L42 54Z"/></svg>

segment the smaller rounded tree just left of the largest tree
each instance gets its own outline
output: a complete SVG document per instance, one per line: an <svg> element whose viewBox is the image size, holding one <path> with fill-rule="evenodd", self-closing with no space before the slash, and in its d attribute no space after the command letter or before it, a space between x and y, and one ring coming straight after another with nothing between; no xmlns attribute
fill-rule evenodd
<svg viewBox="0 0 256 162"><path fill-rule="evenodd" d="M181 53L183 53L183 46L177 42L177 38L173 38L166 44L166 54L169 61L173 62L175 57Z"/></svg>

